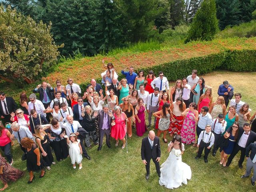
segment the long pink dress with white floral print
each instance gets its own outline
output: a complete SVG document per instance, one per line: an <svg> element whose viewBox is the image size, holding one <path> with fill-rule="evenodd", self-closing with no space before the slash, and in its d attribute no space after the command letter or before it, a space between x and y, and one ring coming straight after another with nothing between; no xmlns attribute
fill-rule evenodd
<svg viewBox="0 0 256 192"><path fill-rule="evenodd" d="M180 132L182 143L185 143L187 145L191 143L196 143L196 121L191 113L192 111L188 111L188 114L183 121L182 129Z"/></svg>

